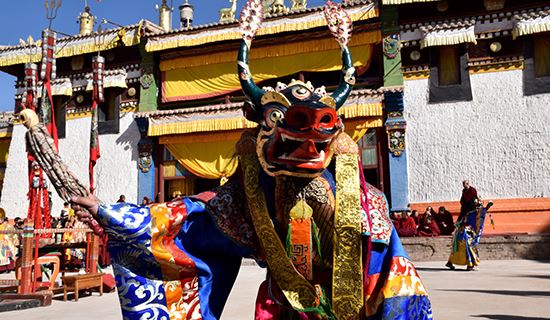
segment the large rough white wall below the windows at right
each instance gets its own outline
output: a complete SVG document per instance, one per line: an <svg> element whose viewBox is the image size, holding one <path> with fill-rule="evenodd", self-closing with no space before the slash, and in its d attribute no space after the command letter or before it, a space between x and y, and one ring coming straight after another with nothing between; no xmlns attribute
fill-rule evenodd
<svg viewBox="0 0 550 320"><path fill-rule="evenodd" d="M410 202L550 196L550 94L523 95L522 71L470 75L473 101L428 104L405 81Z"/></svg>

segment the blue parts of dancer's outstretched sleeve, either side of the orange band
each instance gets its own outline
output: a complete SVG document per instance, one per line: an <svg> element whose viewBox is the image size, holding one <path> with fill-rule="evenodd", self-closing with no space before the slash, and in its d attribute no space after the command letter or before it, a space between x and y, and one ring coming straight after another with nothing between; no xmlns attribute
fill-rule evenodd
<svg viewBox="0 0 550 320"><path fill-rule="evenodd" d="M202 319L219 319L237 277L242 256L215 226L200 201L184 199L187 219L175 245L195 263ZM152 253L151 213L131 204L103 205L99 218L109 235L109 253L124 319L170 319L164 278Z"/></svg>

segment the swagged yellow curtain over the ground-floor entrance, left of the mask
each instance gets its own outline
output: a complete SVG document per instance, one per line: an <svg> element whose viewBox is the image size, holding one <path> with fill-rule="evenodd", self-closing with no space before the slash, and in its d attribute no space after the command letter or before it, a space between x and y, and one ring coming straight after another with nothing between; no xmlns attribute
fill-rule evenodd
<svg viewBox="0 0 550 320"><path fill-rule="evenodd" d="M167 144L166 147L194 175L204 179L222 179L237 170L236 142Z"/></svg>

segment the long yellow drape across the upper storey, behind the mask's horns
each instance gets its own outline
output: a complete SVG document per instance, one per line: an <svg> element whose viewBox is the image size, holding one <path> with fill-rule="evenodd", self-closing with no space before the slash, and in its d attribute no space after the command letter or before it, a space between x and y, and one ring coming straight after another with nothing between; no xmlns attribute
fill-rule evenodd
<svg viewBox="0 0 550 320"><path fill-rule="evenodd" d="M379 40L378 32L358 35L356 45L350 47L354 66L368 66L373 43ZM257 48L251 51L250 69L254 81L281 78L300 71L326 72L342 68L338 44L333 39L318 40L317 43L293 43ZM319 50L321 48L321 50ZM258 53L255 54L255 50ZM214 54L212 57L180 58L161 64L162 101L186 101L219 96L240 89L235 72L235 52ZM257 55L261 58L254 58ZM212 59L212 60L210 60ZM202 62L199 62L202 61ZM179 67L179 68L177 68Z"/></svg>

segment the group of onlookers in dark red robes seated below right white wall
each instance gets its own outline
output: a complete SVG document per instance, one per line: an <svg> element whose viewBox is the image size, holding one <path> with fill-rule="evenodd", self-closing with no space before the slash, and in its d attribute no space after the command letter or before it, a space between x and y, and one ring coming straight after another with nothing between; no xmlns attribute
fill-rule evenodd
<svg viewBox="0 0 550 320"><path fill-rule="evenodd" d="M432 207L427 207L422 214L418 214L416 210L401 214L392 212L390 217L401 237L448 236L455 229L453 216L445 207L439 207L437 212Z"/></svg>

